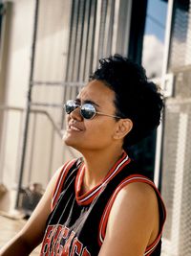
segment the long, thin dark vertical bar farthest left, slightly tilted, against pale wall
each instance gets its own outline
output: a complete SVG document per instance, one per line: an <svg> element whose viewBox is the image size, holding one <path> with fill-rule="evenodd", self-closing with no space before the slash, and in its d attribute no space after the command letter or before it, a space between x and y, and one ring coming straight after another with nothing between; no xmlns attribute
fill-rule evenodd
<svg viewBox="0 0 191 256"><path fill-rule="evenodd" d="M32 103L32 78L33 78L34 54L35 54L36 35L37 35L38 9L39 9L39 0L35 0L33 36L32 36L31 72L30 72L28 103L27 103L27 109L26 109L25 127L24 127L24 135L23 135L23 147L21 152L21 164L20 164L19 180L18 180L18 187L17 187L16 204L15 204L16 208L18 208L19 206L19 195L20 195L20 190L22 188L24 164L25 164L26 150L27 150L27 139L28 139L28 133L29 133L29 122L30 122L30 112L31 112L31 103Z"/></svg>

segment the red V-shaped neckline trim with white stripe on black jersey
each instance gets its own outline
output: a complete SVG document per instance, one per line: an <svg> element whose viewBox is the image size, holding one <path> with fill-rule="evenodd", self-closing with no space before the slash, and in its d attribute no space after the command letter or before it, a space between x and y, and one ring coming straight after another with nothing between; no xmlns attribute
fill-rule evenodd
<svg viewBox="0 0 191 256"><path fill-rule="evenodd" d="M104 177L103 181L101 181L96 187L88 191L87 193L80 196L81 185L84 177L85 166L82 167L81 170L78 170L75 179L75 198L79 205L88 205L93 201L94 198L100 193L100 191L105 187L105 185L115 177L127 164L130 163L130 158L127 153L124 151L121 158L117 161L114 167L110 170L110 172Z"/></svg>

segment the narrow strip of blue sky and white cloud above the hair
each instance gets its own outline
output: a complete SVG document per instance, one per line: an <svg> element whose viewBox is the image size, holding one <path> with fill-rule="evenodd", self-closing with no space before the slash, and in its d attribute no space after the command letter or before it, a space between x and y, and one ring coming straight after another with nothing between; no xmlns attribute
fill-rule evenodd
<svg viewBox="0 0 191 256"><path fill-rule="evenodd" d="M142 64L149 78L159 78L161 76L166 12L166 2L162 0L148 0Z"/></svg>

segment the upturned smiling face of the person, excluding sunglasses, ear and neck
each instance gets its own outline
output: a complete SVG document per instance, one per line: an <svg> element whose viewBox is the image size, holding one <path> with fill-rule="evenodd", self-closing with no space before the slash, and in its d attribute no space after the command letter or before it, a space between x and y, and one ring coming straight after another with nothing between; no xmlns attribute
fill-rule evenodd
<svg viewBox="0 0 191 256"><path fill-rule="evenodd" d="M102 81L90 81L76 97L79 105L92 103L96 111L115 115L115 92ZM114 133L117 120L113 117L98 115L87 120L81 117L77 107L67 115L67 129L63 136L66 145L77 151L98 151L110 147L115 142Z"/></svg>

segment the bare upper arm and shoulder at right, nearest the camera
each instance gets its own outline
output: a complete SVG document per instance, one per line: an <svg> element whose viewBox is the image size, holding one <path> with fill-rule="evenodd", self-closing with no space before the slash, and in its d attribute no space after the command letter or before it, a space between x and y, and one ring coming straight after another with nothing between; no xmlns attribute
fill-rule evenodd
<svg viewBox="0 0 191 256"><path fill-rule="evenodd" d="M99 255L143 255L158 232L159 208L154 188L141 182L128 184L113 202ZM111 244L115 244L112 250Z"/></svg>

